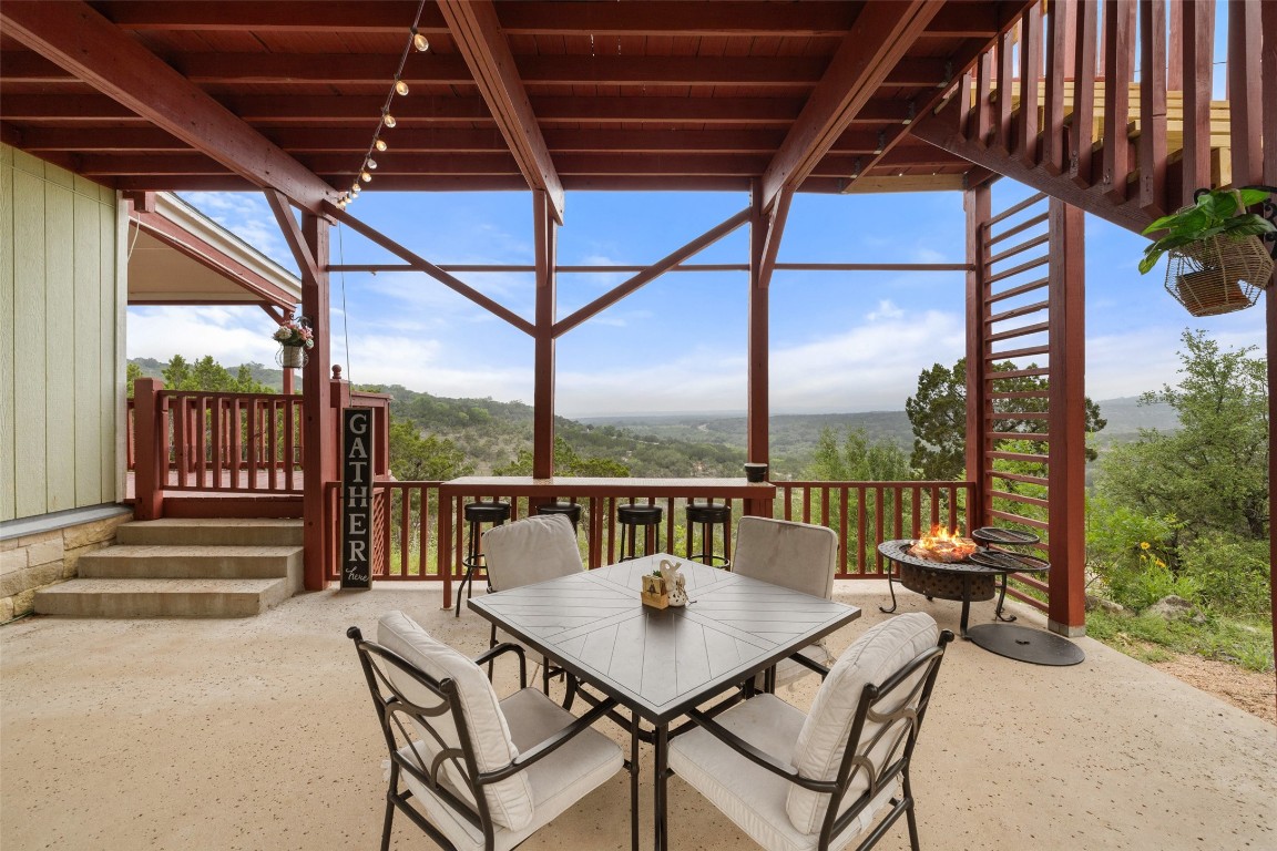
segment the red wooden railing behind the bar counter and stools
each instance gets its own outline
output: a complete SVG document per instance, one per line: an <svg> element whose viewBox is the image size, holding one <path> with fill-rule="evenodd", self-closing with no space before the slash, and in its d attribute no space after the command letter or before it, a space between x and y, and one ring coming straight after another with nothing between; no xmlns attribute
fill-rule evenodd
<svg viewBox="0 0 1277 851"><path fill-rule="evenodd" d="M326 500L324 528L333 536L329 552L338 552L336 482L329 484ZM923 482L776 482L773 515L782 519L817 523L838 533L843 554L840 579L886 578L890 564L877 554L881 541L918 537L932 526L967 531L967 505L972 485L960 481ZM377 535L374 540L374 579L438 581L451 573L462 577L458 552L466 529L460 513L453 521L452 540L458 545L451 554L438 551L439 482L381 482L375 487L374 507ZM511 504L511 518L529 514L527 499L485 494L485 499L502 499ZM584 519L578 531L582 559L590 568L612 564L619 558L619 531L616 524L618 504L630 498L589 496L580 500ZM638 501L664 508L661 549L686 551L683 522L684 498L649 498ZM722 501L722 500L720 500ZM733 517L742 513L742 500L727 500ZM730 558L730 527L716 541L718 551ZM328 579L340 577L336 560L328 566Z"/></svg>

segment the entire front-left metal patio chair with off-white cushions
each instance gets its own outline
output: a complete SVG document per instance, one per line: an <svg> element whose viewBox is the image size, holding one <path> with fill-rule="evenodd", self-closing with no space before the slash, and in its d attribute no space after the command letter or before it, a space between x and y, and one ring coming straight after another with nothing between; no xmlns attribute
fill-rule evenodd
<svg viewBox="0 0 1277 851"><path fill-rule="evenodd" d="M448 851L508 851L622 767L621 748L590 729L616 700L572 716L526 688L515 644L471 661L400 611L382 615L377 643L346 635L389 749L382 851L396 809ZM521 688L498 700L479 665L504 653L518 656Z"/></svg>

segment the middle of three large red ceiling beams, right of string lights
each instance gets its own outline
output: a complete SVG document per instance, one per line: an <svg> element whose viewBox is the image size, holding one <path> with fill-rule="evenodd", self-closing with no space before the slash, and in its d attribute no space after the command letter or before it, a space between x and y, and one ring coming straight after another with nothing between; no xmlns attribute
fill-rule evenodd
<svg viewBox="0 0 1277 851"><path fill-rule="evenodd" d="M441 0L439 10L529 188L547 193L554 218L562 225L563 184L501 32L497 10L489 0Z"/></svg>

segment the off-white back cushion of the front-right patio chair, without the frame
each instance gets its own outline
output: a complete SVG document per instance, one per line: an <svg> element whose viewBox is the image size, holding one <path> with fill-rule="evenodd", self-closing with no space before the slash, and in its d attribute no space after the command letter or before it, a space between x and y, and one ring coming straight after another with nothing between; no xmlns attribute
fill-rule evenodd
<svg viewBox="0 0 1277 851"><path fill-rule="evenodd" d="M940 630L931 615L912 612L882 621L848 647L821 684L812 702L811 713L798 734L793 754L793 767L798 773L812 780L835 780L865 686L870 683L882 683L913 658L935 647L939 639ZM918 676L922 675L919 671ZM905 684L900 694L908 694L909 690L909 685ZM871 739L879 726L881 725L866 721L862 741ZM879 760L890 757L893 744L894 740L888 736L868 754L875 766L880 766ZM865 772L856 772L843 799L844 806L854 803L867 787L868 778ZM819 831L827 808L827 795L798 786L789 790L789 800L785 804L789 819L802 833Z"/></svg>

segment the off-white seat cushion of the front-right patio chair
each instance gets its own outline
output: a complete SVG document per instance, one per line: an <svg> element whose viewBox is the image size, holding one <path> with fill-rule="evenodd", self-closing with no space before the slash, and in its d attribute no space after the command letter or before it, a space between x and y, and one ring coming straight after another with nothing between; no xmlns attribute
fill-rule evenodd
<svg viewBox="0 0 1277 851"><path fill-rule="evenodd" d="M771 694L738 703L718 722L780 764L790 762L806 716ZM799 832L785 813L793 783L753 764L704 730L690 730L669 743L669 767L700 791L737 827L769 851L811 851L820 834ZM872 811L890 799L885 790L831 848L843 848L872 824ZM872 810L872 811L871 811ZM819 829L817 824L817 829Z"/></svg>

